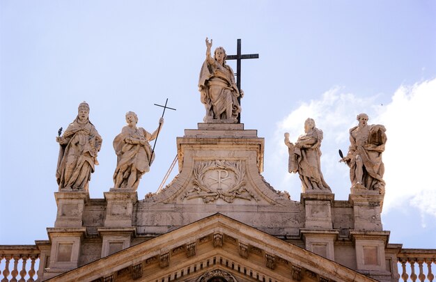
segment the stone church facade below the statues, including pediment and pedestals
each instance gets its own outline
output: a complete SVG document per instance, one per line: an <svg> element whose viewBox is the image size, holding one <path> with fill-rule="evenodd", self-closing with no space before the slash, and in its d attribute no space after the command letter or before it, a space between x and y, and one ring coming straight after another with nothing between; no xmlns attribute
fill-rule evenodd
<svg viewBox="0 0 436 282"><path fill-rule="evenodd" d="M398 281L383 195L291 200L261 175L264 140L243 124L200 123L177 146L178 175L146 198L56 192L42 280Z"/></svg>

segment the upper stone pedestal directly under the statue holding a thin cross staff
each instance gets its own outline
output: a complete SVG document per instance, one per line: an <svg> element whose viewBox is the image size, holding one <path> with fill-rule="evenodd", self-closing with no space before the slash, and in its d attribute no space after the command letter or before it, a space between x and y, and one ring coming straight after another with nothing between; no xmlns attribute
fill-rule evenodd
<svg viewBox="0 0 436 282"><path fill-rule="evenodd" d="M128 189L111 189L104 192L107 201L104 227L131 227L133 206L138 201L137 191Z"/></svg>

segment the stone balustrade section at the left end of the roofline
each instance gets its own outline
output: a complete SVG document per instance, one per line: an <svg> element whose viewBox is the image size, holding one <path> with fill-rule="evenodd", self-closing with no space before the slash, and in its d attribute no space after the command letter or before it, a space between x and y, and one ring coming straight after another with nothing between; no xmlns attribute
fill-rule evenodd
<svg viewBox="0 0 436 282"><path fill-rule="evenodd" d="M0 281L40 281L36 270L40 250L36 245L0 245ZM19 276L19 277L17 277Z"/></svg>

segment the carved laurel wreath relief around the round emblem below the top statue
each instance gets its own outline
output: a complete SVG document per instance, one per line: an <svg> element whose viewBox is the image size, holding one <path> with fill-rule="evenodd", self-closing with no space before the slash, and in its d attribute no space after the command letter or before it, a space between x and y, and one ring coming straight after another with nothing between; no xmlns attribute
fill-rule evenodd
<svg viewBox="0 0 436 282"><path fill-rule="evenodd" d="M208 185L205 184L205 175L208 171L216 169L233 171L233 173L235 173L235 185L226 191L222 191L221 189L212 191ZM246 182L244 181L244 175L245 171L242 169L241 161L228 162L224 160L215 160L210 162L200 162L194 169L194 180L192 181L194 188L187 191L186 194L182 196L182 199L187 198L190 200L192 198L203 198L203 202L205 203L215 201L218 198L222 198L227 203L233 203L235 198L242 198L248 201L251 201L251 198L254 198L257 201L256 196L245 189ZM244 192L247 192L248 195Z"/></svg>

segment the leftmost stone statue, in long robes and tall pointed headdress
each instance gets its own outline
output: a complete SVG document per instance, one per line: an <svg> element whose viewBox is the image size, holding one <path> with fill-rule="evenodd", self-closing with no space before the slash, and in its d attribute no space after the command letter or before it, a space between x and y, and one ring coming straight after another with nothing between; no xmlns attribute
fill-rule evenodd
<svg viewBox="0 0 436 282"><path fill-rule="evenodd" d="M61 146L56 180L59 189L88 191L91 173L94 172L94 165L98 164L97 153L102 146L102 137L89 121L89 105L82 102L78 111L77 118L68 125L63 135L56 137Z"/></svg>

